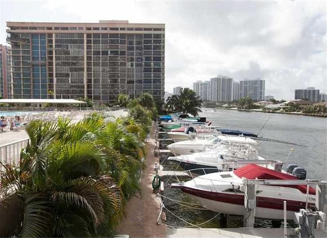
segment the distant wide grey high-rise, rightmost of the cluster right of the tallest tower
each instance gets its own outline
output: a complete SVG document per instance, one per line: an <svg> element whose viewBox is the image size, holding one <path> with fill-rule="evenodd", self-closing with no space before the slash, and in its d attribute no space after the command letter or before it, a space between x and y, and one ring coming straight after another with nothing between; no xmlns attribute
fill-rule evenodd
<svg viewBox="0 0 327 238"><path fill-rule="evenodd" d="M261 101L265 96L265 80L255 78L240 81L240 98L250 97L254 101Z"/></svg>

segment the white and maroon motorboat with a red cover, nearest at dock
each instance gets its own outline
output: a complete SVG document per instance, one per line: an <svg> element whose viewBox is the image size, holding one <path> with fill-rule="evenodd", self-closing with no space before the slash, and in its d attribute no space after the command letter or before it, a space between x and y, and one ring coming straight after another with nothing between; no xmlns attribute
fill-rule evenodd
<svg viewBox="0 0 327 238"><path fill-rule="evenodd" d="M179 188L190 194L201 206L225 214L245 215L244 186L242 178L269 180L297 180L298 178L264 168L255 164L248 164L233 171L215 172L196 177L188 182L172 184L172 188ZM315 209L315 189L309 187L307 196L306 185L255 185L256 208L254 216L257 218L281 220L283 219L284 201L287 202L287 219L294 219L294 212L306 207Z"/></svg>

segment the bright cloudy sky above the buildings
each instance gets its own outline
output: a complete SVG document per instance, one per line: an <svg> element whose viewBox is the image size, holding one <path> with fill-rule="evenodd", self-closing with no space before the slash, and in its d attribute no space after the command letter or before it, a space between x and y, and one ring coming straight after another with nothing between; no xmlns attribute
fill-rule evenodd
<svg viewBox="0 0 327 238"><path fill-rule="evenodd" d="M327 1L6 1L6 21L166 24L165 91L193 89L217 75L262 78L265 95L293 99L295 89L327 93Z"/></svg>

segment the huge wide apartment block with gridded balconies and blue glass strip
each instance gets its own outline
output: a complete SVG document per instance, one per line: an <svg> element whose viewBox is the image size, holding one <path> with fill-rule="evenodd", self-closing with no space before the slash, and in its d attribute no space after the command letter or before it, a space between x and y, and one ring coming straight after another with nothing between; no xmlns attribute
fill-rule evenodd
<svg viewBox="0 0 327 238"><path fill-rule="evenodd" d="M7 22L13 98L164 100L165 24Z"/></svg>

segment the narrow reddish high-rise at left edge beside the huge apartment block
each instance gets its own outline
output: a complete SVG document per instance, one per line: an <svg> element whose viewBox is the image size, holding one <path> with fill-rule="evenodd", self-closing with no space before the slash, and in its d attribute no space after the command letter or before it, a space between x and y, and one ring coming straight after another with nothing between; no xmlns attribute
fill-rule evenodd
<svg viewBox="0 0 327 238"><path fill-rule="evenodd" d="M10 48L0 45L0 97L3 98L11 98L10 57Z"/></svg>

